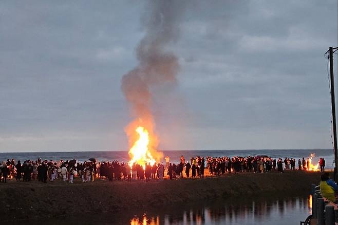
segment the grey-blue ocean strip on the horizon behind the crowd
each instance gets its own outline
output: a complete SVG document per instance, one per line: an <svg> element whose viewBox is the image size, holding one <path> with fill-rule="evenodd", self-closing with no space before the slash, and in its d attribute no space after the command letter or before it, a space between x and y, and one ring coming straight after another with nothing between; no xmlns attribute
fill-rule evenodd
<svg viewBox="0 0 338 225"><path fill-rule="evenodd" d="M296 160L302 159L303 157L307 159L312 153L315 156L312 159L312 163L315 164L318 162L319 158L324 158L326 161L326 168L331 168L334 160L334 151L333 149L255 149L255 150L199 150L199 151L162 151L164 157L169 156L170 161L177 163L180 161L181 155L185 159L190 159L193 156L211 156L211 157L221 157L221 156L258 156L258 155L267 155L271 158L295 158ZM89 158L96 158L97 161L124 161L128 162L128 152L127 151L91 151L91 152L16 152L16 153L0 153L0 161L7 161L7 159L21 160L21 162L30 159L36 160L41 158L42 160L54 160L59 161L63 160L72 160L77 159L80 162L84 162ZM162 159L164 162L164 159Z"/></svg>

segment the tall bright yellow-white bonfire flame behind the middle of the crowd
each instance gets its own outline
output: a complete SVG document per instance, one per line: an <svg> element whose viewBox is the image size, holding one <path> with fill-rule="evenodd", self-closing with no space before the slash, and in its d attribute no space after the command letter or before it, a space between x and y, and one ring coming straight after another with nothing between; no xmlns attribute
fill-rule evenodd
<svg viewBox="0 0 338 225"><path fill-rule="evenodd" d="M139 134L139 139L135 141L133 147L129 150L129 156L132 158L129 161L129 165L133 165L134 163L140 164L144 166L149 162L153 165L156 160L153 158L152 154L149 152L148 144L149 144L149 133L142 126L138 126L135 130Z"/></svg>

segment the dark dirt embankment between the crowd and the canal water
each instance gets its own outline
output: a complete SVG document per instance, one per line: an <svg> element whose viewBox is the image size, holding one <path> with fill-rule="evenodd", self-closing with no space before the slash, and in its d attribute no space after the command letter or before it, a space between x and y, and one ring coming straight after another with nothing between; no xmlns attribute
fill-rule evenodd
<svg viewBox="0 0 338 225"><path fill-rule="evenodd" d="M115 213L120 210L154 209L163 205L199 202L215 198L307 194L320 173L293 171L243 173L205 179L152 181L96 180L74 184L62 181L0 183L2 220L52 218Z"/></svg>

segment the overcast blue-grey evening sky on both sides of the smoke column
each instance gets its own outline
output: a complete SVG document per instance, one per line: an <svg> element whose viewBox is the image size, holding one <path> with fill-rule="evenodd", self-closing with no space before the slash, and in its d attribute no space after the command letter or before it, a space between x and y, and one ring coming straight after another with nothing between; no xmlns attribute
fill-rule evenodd
<svg viewBox="0 0 338 225"><path fill-rule="evenodd" d="M336 1L185 3L177 82L154 90L160 150L332 148ZM0 152L127 150L121 79L149 4L1 1Z"/></svg>

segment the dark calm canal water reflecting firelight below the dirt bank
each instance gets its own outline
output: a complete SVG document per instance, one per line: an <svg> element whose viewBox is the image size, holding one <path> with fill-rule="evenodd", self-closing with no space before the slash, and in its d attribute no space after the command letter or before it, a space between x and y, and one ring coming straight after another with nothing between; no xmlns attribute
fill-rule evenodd
<svg viewBox="0 0 338 225"><path fill-rule="evenodd" d="M75 206L76 207L76 206ZM130 224L130 225L253 225L299 224L311 214L311 196L223 199L204 203L185 203L151 211L128 210L117 214L89 214L81 218L54 218L44 224ZM32 221L26 222L31 224ZM35 223L36 224L36 223Z"/></svg>

